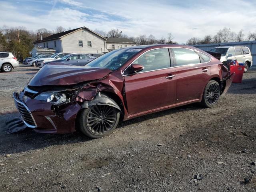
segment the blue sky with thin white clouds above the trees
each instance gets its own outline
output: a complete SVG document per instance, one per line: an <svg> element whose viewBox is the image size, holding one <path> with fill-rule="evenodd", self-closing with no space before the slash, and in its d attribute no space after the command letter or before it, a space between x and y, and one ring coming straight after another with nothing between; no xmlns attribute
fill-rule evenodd
<svg viewBox="0 0 256 192"><path fill-rule="evenodd" d="M0 27L28 30L56 26L154 35L174 41L214 35L224 27L256 31L256 0L0 0Z"/></svg>

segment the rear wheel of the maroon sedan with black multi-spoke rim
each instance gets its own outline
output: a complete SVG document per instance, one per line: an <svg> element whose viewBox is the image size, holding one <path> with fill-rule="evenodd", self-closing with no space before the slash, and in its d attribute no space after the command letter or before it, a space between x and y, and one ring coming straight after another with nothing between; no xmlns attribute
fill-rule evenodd
<svg viewBox="0 0 256 192"><path fill-rule="evenodd" d="M201 104L210 108L216 105L220 97L220 85L215 80L210 80L204 88Z"/></svg>

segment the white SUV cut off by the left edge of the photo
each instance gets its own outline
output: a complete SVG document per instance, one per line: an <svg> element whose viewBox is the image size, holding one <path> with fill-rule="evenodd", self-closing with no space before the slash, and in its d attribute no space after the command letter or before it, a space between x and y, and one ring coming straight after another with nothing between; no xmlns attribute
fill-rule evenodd
<svg viewBox="0 0 256 192"><path fill-rule="evenodd" d="M0 69L3 72L11 72L13 68L18 67L19 62L10 52L0 52Z"/></svg>

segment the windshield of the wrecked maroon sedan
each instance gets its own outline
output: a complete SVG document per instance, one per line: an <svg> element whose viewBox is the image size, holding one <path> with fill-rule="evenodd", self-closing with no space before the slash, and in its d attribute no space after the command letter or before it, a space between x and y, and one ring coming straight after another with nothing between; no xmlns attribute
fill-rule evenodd
<svg viewBox="0 0 256 192"><path fill-rule="evenodd" d="M126 48L110 51L86 65L89 67L108 68L110 70L116 70L122 66L127 60L129 60L134 54L138 53L141 49L138 48Z"/></svg>

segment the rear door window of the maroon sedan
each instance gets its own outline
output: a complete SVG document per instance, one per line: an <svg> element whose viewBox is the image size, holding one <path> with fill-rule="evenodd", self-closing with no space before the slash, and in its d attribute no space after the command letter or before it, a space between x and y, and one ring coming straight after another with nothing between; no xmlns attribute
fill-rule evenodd
<svg viewBox="0 0 256 192"><path fill-rule="evenodd" d="M186 48L172 48L176 60L176 66L200 63L199 55Z"/></svg>

